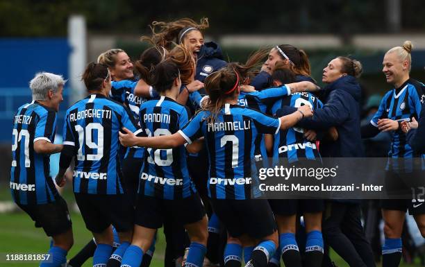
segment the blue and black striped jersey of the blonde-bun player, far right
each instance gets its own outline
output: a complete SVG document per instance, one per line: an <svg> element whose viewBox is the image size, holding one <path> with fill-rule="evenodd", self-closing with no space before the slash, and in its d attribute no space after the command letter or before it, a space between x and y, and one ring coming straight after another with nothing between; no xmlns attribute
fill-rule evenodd
<svg viewBox="0 0 425 267"><path fill-rule="evenodd" d="M392 89L385 94L370 123L377 127L379 119L410 121L412 117L418 118L422 108L421 101L425 101L425 85L409 79L400 88ZM412 148L406 141L406 134L401 130L396 130L392 134L388 157L412 157Z"/></svg>

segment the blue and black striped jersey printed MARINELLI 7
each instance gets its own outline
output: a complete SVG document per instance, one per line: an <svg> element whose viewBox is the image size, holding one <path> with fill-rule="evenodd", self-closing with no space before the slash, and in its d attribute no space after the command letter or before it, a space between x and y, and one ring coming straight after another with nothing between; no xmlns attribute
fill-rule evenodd
<svg viewBox="0 0 425 267"><path fill-rule="evenodd" d="M260 196L255 164L251 164L254 140L261 133L276 134L280 119L239 105L226 104L214 122L201 111L178 132L191 143L205 137L210 160L208 195L217 199L248 199Z"/></svg>

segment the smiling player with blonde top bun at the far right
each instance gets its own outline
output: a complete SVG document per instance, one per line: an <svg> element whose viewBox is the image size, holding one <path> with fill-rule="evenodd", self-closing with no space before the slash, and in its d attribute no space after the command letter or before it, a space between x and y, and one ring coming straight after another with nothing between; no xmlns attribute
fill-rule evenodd
<svg viewBox="0 0 425 267"><path fill-rule="evenodd" d="M402 46L395 46L383 58L383 73L391 89L381 101L378 111L369 125L362 128L362 137L373 137L379 131L392 131L392 142L388 157L391 160L390 170L386 172L385 180L407 179L412 173L412 148L406 142L406 134L401 131L401 122L410 121L412 117L418 118L421 114L422 104L425 100L424 84L410 78L409 72L412 65L410 52L412 43L406 41ZM399 164L403 163L405 169ZM409 170L410 169L410 170ZM420 174L419 175L423 175ZM419 176L420 178L421 176ZM410 193L410 189L409 189ZM415 192L417 193L417 192ZM425 205L424 199L382 200L383 219L385 221L383 245L383 266L399 266L401 259L401 232L406 211L415 218L417 226L425 236Z"/></svg>

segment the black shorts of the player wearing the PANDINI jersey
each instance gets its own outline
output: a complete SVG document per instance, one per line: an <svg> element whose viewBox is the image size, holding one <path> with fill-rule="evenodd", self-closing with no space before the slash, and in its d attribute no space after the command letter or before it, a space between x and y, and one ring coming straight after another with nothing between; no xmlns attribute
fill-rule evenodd
<svg viewBox="0 0 425 267"><path fill-rule="evenodd" d="M201 221L205 214L201 198L197 193L188 198L176 200L139 194L135 211L135 224L158 229L163 226L166 217L170 218L169 216L175 218L177 223L186 225Z"/></svg>

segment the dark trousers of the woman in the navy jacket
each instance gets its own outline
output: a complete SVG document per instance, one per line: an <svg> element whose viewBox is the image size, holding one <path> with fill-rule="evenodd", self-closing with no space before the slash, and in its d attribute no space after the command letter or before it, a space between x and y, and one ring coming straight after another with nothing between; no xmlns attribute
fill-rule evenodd
<svg viewBox="0 0 425 267"><path fill-rule="evenodd" d="M372 248L360 222L360 204L326 203L322 233L324 241L350 267L375 267Z"/></svg>

